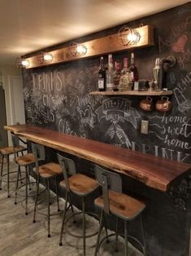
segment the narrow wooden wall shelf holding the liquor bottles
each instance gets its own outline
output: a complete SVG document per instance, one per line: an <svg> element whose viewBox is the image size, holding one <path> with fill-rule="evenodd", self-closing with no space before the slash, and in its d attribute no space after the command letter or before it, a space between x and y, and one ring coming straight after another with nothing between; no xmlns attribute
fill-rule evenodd
<svg viewBox="0 0 191 256"><path fill-rule="evenodd" d="M90 95L137 95L137 96L165 96L172 95L172 90L125 90L125 91L92 91Z"/></svg>

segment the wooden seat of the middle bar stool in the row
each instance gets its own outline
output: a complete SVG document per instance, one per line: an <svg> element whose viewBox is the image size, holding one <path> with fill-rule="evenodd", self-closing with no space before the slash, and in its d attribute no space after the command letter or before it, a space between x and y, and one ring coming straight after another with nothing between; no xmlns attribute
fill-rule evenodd
<svg viewBox="0 0 191 256"><path fill-rule="evenodd" d="M62 173L63 173L63 170L61 166L54 162L50 162L46 165L39 166L39 174L41 175L41 177L46 179Z"/></svg>

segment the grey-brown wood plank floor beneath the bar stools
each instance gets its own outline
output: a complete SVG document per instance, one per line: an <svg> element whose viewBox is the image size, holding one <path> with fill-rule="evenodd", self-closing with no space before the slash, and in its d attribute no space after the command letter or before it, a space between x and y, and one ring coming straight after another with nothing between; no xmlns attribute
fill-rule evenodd
<svg viewBox="0 0 191 256"><path fill-rule="evenodd" d="M11 163L12 170L15 165ZM51 237L47 237L46 219L44 215L37 214L37 223L33 223L33 204L34 196L30 196L28 202L28 215L24 214L24 201L19 196L20 202L14 204L14 187L12 187L11 197L7 198L7 183L2 183L0 191L0 255L1 256L77 256L83 255L81 239L70 236L67 232L63 233L63 246L59 246L59 232L62 222L62 214L54 215L51 218ZM62 209L64 201L60 200ZM43 204L40 210L46 210ZM56 212L56 205L52 203L51 208ZM68 215L70 212L68 211ZM79 215L80 216L80 215ZM70 225L72 224L72 225ZM70 227L71 226L71 227ZM68 222L68 229L73 228L73 232L80 233L81 221L76 224ZM87 232L93 232L98 228L98 222L88 217ZM93 256L96 236L87 240L87 256ZM119 247L123 248L123 240L119 242ZM124 255L124 251L119 250L115 253L112 250L112 242L102 246L100 254L103 256ZM120 246L121 244L121 246ZM140 256L136 249L129 248L129 256Z"/></svg>

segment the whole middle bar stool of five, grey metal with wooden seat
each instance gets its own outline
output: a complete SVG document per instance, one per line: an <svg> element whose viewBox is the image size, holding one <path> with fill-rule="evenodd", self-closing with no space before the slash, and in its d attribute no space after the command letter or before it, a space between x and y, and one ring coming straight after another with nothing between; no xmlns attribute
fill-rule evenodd
<svg viewBox="0 0 191 256"><path fill-rule="evenodd" d="M50 216L54 214L50 214L50 180L54 179L55 182L55 189L56 189L56 197L58 203L58 213L59 213L59 195L58 195L58 188L57 188L57 176L59 174L63 174L63 170L61 169L58 163L50 162L44 165L40 165L42 161L46 160L46 152L45 147L43 145L32 143L32 150L35 156L35 168L33 171L36 174L37 179L37 191L35 197L35 205L34 205L34 214L33 214L33 223L36 223L36 212L37 212L37 205L41 202L38 201L39 193L39 184L40 181L43 182L46 186L46 196L47 196L47 214L43 214L38 210L39 214L46 215L48 218L48 237L50 237ZM57 214L58 214L57 213Z"/></svg>

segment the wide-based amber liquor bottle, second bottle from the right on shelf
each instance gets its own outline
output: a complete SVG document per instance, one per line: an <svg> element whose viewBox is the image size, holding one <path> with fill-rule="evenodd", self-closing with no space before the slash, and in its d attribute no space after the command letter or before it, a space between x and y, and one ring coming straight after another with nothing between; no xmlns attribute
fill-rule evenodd
<svg viewBox="0 0 191 256"><path fill-rule="evenodd" d="M119 80L119 90L131 90L129 87L130 73L128 69L128 58L124 58L124 68L121 70L121 77Z"/></svg>

